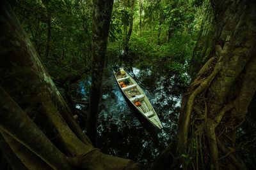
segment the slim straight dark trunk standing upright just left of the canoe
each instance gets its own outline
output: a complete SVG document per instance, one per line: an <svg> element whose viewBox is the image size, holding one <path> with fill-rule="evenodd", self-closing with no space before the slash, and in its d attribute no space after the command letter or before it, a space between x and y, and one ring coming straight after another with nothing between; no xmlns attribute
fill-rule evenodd
<svg viewBox="0 0 256 170"><path fill-rule="evenodd" d="M87 134L97 146L98 107L101 99L102 74L106 58L109 24L113 8L113 0L93 1L92 21L92 86L90 91L90 106L87 117Z"/></svg>

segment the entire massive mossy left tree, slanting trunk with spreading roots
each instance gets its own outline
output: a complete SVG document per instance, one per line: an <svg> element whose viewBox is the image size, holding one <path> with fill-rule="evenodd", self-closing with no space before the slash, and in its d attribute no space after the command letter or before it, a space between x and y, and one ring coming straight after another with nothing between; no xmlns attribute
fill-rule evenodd
<svg viewBox="0 0 256 170"><path fill-rule="evenodd" d="M0 133L8 161L19 159L22 169L138 169L92 146L5 1L0 18Z"/></svg>

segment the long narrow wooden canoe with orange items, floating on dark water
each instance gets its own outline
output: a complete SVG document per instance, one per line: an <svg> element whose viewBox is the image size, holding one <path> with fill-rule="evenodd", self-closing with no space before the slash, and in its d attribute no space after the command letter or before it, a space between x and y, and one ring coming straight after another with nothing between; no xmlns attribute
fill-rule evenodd
<svg viewBox="0 0 256 170"><path fill-rule="evenodd" d="M138 112L140 112L151 124L155 125L159 129L163 129L163 125L161 124L156 111L148 101L147 96L138 83L136 83L136 81L134 81L134 79L126 72L125 74L120 74L120 71L113 72L120 89L134 108L136 108L136 110L138 110ZM125 80L129 80L129 84L126 84L127 87L121 87L120 83ZM134 103L136 103L136 101L140 101L141 106L135 106Z"/></svg>

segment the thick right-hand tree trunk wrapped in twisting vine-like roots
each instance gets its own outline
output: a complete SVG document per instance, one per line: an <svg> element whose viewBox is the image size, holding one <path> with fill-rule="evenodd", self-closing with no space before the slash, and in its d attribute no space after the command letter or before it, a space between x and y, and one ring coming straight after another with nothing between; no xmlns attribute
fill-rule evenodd
<svg viewBox="0 0 256 170"><path fill-rule="evenodd" d="M215 49L211 41L203 46L210 59L182 97L177 156L185 169L246 169L235 154L244 144L236 129L256 90L256 2L211 5Z"/></svg>

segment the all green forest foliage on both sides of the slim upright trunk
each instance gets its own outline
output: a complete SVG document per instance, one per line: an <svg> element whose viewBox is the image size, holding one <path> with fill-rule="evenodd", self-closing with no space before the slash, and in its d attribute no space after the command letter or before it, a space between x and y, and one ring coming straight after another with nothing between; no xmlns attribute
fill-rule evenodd
<svg viewBox="0 0 256 170"><path fill-rule="evenodd" d="M60 78L82 67L90 67L91 1L20 0L12 4L52 77ZM166 75L180 74L181 85L186 85L189 81L186 73L200 29L200 18L196 19L201 11L199 4L200 1L178 0L115 1L109 28L108 60L125 62L127 66L150 67ZM195 6L199 6L197 10ZM50 51L45 56L49 13ZM127 43L132 21L132 34ZM128 50L127 55L125 50Z"/></svg>

